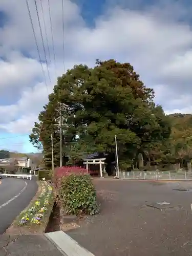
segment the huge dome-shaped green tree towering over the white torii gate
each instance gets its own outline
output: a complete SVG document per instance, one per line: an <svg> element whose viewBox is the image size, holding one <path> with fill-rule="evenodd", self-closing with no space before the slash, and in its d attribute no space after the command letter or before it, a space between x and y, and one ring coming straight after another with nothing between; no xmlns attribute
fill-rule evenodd
<svg viewBox="0 0 192 256"><path fill-rule="evenodd" d="M34 126L31 142L39 146L40 140L45 156L50 159L55 108L58 102L65 103L67 140L63 152L75 162L95 151L114 155L117 136L119 162L125 168L138 153L169 137L169 122L153 98L153 89L144 86L130 63L111 59L97 60L94 68L74 66L58 78L54 93ZM54 138L56 156L58 137Z"/></svg>

